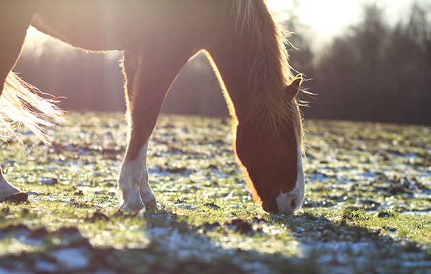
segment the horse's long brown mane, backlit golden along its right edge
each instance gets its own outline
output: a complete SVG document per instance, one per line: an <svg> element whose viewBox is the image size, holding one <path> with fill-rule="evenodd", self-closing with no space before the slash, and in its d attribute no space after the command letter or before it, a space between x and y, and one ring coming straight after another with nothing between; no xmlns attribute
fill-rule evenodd
<svg viewBox="0 0 431 274"><path fill-rule="evenodd" d="M269 123L274 134L278 134L280 127L286 123L291 123L304 153L303 119L298 101L292 100L285 92L287 85L302 77L293 76L288 62L289 54L285 45L290 45L287 39L289 34L274 21L264 0L231 1L231 10L236 18L237 30L244 32L245 28L250 29L258 44L248 80L252 87L248 118L266 117L265 122Z"/></svg>

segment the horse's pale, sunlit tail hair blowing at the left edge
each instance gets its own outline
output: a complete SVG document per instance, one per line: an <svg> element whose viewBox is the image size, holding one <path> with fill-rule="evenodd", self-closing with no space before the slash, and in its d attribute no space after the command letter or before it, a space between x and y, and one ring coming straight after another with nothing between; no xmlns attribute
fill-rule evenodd
<svg viewBox="0 0 431 274"><path fill-rule="evenodd" d="M44 127L52 127L54 124L45 121L44 118L62 120L64 112L56 105L58 103L56 99L45 99L38 93L44 95L10 71L0 96L0 140L8 141L14 137L22 143L16 129L25 125L45 145L51 145L51 139Z"/></svg>

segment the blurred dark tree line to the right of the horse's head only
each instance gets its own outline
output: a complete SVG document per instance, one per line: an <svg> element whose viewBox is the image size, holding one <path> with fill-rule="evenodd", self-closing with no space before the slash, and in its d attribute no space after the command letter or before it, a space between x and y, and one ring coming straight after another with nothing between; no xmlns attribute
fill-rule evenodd
<svg viewBox="0 0 431 274"><path fill-rule="evenodd" d="M317 100L304 110L320 119L431 124L431 10L414 3L389 26L376 5L304 66ZM303 46L303 42L301 43ZM291 56L293 62L297 58ZM309 64L313 64L309 66Z"/></svg>

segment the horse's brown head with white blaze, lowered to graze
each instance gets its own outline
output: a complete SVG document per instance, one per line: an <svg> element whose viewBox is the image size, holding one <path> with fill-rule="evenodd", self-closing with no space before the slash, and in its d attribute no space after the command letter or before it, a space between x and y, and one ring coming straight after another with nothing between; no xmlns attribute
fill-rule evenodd
<svg viewBox="0 0 431 274"><path fill-rule="evenodd" d="M286 87L290 100L298 95L299 85L300 79L296 79ZM300 117L298 108L295 111ZM274 133L264 117L239 121L235 147L248 185L254 188L254 200L260 201L266 212L291 214L304 201L301 140L295 132L302 129L292 122L278 130L281 132Z"/></svg>

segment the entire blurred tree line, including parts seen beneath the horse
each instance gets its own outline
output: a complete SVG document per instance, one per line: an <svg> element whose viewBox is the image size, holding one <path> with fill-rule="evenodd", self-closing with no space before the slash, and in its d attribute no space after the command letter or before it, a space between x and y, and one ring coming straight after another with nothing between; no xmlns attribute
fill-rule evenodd
<svg viewBox="0 0 431 274"><path fill-rule="evenodd" d="M296 32L297 49L287 45L290 62L309 81L316 95L302 108L306 119L345 119L431 125L431 12L413 3L407 18L388 25L376 5L365 5L360 23L352 25L325 47L314 51L313 40L294 12L285 22ZM59 51L46 42L44 51L25 49L15 71L63 99L69 110L125 110L120 53ZM168 94L164 112L226 116L220 87L205 55L181 71Z"/></svg>

